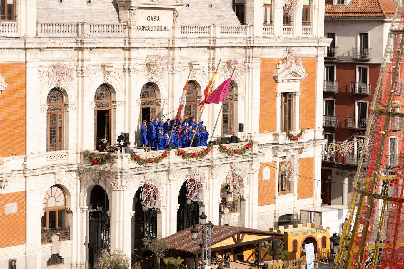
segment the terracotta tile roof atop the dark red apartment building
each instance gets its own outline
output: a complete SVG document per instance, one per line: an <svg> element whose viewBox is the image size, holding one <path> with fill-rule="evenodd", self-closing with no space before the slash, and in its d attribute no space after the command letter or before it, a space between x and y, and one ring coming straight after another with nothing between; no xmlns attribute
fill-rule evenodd
<svg viewBox="0 0 404 269"><path fill-rule="evenodd" d="M347 1L347 0L345 0ZM347 5L332 5L325 0L325 17L393 17L396 2L393 0L352 0Z"/></svg>

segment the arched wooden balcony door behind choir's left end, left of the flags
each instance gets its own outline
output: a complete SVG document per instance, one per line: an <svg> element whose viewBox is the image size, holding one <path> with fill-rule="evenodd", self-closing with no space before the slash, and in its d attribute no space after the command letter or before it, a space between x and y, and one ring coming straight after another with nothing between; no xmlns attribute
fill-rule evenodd
<svg viewBox="0 0 404 269"><path fill-rule="evenodd" d="M156 88L153 84L146 83L140 91L140 123L156 117Z"/></svg>

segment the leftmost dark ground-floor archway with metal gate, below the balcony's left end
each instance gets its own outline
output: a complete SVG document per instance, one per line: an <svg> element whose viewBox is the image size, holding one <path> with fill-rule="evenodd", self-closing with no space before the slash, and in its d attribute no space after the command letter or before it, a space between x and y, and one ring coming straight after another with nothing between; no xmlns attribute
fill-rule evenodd
<svg viewBox="0 0 404 269"><path fill-rule="evenodd" d="M93 268L103 249L110 250L109 199L105 190L96 185L90 193L88 214L88 268Z"/></svg>

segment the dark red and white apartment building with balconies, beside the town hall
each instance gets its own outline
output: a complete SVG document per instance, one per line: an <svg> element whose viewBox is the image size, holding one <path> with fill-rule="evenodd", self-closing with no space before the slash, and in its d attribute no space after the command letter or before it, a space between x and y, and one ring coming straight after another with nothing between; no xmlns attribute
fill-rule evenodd
<svg viewBox="0 0 404 269"><path fill-rule="evenodd" d="M349 200L395 8L392 0L326 0L323 204Z"/></svg>

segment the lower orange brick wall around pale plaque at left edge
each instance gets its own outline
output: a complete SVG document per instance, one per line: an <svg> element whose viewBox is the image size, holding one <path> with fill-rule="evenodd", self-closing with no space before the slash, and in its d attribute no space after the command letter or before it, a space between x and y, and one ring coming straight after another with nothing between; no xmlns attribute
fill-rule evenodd
<svg viewBox="0 0 404 269"><path fill-rule="evenodd" d="M17 213L4 214L4 204L17 202ZM25 192L0 194L0 248L25 244Z"/></svg>

